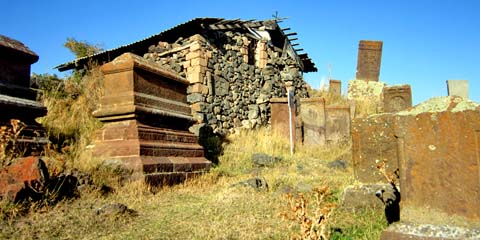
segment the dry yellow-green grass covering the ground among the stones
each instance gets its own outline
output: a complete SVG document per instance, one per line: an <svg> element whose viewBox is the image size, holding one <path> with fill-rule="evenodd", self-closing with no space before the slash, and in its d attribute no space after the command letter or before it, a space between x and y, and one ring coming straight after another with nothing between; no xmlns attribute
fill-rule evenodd
<svg viewBox="0 0 480 240"><path fill-rule="evenodd" d="M272 136L268 129L233 135L229 140L219 165L197 179L164 187L156 194L141 181L118 186L116 193L108 196L83 192L81 199L1 221L0 238L288 239L301 232L301 225L282 221L281 213L288 210L286 193L301 193L314 202L314 189L329 186L332 194L325 203L340 205L343 189L353 182L351 168L327 167L332 160L350 160L348 143L328 148L299 147L290 156L288 142ZM258 168L250 160L255 152L283 160L273 167ZM232 186L254 176L264 177L269 189ZM109 203L126 204L138 216L96 214L96 209ZM375 239L386 227L382 214L337 208L331 212L326 228L331 239Z"/></svg>

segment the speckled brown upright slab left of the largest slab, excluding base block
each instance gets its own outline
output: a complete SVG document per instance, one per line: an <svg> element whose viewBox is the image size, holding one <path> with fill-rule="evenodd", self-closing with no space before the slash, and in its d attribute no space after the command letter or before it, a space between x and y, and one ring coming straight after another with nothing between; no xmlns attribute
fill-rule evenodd
<svg viewBox="0 0 480 240"><path fill-rule="evenodd" d="M377 164L386 162L387 172L398 168L394 114L376 114L352 119L353 173L364 184L385 183Z"/></svg>

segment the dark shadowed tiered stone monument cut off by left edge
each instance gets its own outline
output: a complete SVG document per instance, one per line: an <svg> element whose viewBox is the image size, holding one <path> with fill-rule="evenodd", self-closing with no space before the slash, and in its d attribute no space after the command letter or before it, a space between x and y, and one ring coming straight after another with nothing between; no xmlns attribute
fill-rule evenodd
<svg viewBox="0 0 480 240"><path fill-rule="evenodd" d="M47 110L30 89L30 65L37 61L37 54L23 43L0 35L0 126L9 126L11 119L26 124L17 144L26 155L39 154L47 142L43 128L35 121Z"/></svg>

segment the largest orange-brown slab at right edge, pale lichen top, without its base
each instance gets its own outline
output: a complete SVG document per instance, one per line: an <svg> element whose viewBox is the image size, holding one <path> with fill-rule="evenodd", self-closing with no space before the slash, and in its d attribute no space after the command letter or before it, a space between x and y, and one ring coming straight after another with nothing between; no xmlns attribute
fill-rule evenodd
<svg viewBox="0 0 480 240"><path fill-rule="evenodd" d="M428 208L478 221L480 106L460 97L432 101L395 119L402 214L418 220L417 210Z"/></svg>

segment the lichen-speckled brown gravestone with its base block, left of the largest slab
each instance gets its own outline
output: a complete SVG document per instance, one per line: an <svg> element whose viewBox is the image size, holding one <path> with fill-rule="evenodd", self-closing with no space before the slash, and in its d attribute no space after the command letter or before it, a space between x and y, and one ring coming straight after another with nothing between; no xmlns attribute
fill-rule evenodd
<svg viewBox="0 0 480 240"><path fill-rule="evenodd" d="M389 173L398 169L394 116L391 113L375 114L352 120L353 172L359 184L345 190L346 207L384 207L375 192L391 187L377 165L384 162Z"/></svg>

